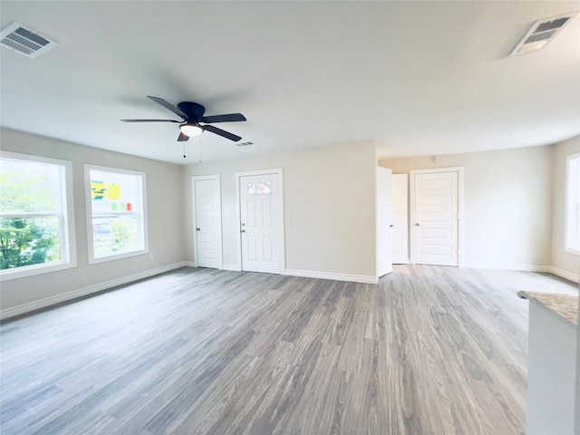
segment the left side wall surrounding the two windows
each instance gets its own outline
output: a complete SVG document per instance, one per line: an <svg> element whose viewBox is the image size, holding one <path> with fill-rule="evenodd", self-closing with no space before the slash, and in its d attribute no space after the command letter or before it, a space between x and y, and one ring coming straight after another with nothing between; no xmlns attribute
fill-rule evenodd
<svg viewBox="0 0 580 435"><path fill-rule="evenodd" d="M77 267L2 283L3 316L89 294L145 275L183 265L185 242L182 168L178 165L97 150L41 136L2 129L2 149L73 162ZM89 266L83 165L132 169L147 175L149 245L154 258L132 256Z"/></svg>

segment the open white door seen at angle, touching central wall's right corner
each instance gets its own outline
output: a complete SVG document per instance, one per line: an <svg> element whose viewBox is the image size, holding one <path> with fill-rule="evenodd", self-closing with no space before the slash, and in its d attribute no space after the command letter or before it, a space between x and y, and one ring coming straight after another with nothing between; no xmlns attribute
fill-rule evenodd
<svg viewBox="0 0 580 435"><path fill-rule="evenodd" d="M391 169L377 168L377 277L392 272Z"/></svg>

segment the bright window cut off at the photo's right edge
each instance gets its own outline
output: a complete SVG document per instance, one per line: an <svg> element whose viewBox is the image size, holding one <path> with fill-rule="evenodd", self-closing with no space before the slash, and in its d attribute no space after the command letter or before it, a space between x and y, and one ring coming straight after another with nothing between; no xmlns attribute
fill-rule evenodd
<svg viewBox="0 0 580 435"><path fill-rule="evenodd" d="M564 247L580 255L580 152L566 157Z"/></svg>

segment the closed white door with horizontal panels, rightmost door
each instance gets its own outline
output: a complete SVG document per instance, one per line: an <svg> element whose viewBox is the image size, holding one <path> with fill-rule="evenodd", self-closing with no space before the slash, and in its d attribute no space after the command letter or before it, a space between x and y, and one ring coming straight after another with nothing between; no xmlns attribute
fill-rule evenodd
<svg viewBox="0 0 580 435"><path fill-rule="evenodd" d="M411 263L459 266L459 170L411 170Z"/></svg>

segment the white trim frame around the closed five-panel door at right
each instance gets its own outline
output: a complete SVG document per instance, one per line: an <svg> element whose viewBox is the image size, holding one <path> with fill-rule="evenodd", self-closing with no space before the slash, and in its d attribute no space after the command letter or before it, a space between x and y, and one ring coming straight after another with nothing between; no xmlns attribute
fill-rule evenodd
<svg viewBox="0 0 580 435"><path fill-rule="evenodd" d="M465 198L463 189L463 167L453 166L449 168L433 168L433 169L411 169L409 171L409 261L411 265L413 262L413 244L412 244L412 231L411 222L415 220L415 175L416 174L437 174L443 172L457 172L458 173L458 226L457 226L457 238L458 238L458 267L463 267L465 264Z"/></svg>

